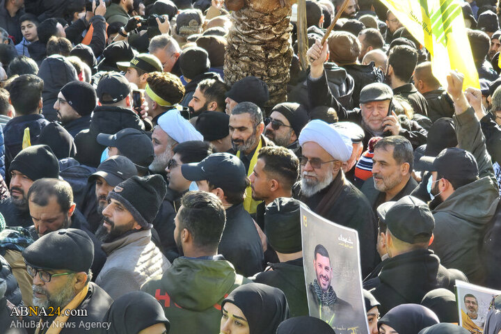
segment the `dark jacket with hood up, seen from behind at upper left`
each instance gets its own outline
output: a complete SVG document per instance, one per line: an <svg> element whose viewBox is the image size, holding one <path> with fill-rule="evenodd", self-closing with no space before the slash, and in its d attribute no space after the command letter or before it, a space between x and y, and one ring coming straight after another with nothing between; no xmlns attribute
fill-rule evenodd
<svg viewBox="0 0 501 334"><path fill-rule="evenodd" d="M61 88L70 81L77 81L77 71L65 57L58 54L48 56L42 61L38 77L43 79L42 90L43 109L42 113L49 121L57 120L57 111L54 110L54 102Z"/></svg>

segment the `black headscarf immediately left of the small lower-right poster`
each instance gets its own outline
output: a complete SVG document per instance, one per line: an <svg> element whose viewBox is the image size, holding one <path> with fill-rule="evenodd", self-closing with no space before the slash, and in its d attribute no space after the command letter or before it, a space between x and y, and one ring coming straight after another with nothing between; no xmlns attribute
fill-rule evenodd
<svg viewBox="0 0 501 334"><path fill-rule="evenodd" d="M431 290L424 295L421 305L435 312L440 322L459 323L456 296L450 290L444 288Z"/></svg>

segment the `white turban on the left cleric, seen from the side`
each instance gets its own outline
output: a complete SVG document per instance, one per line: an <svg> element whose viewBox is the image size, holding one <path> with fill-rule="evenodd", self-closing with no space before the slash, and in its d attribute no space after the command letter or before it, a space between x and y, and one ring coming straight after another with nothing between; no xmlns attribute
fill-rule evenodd
<svg viewBox="0 0 501 334"><path fill-rule="evenodd" d="M203 136L196 131L190 122L185 120L179 110L169 110L160 116L157 121L159 127L177 143L185 141L203 141Z"/></svg>

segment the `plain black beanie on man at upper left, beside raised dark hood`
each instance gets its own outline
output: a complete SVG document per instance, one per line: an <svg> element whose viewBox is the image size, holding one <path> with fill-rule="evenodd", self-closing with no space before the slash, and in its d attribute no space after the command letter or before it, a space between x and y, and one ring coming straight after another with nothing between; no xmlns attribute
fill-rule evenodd
<svg viewBox="0 0 501 334"><path fill-rule="evenodd" d="M87 116L96 106L96 93L91 84L84 81L71 81L61 88L61 94L80 116Z"/></svg>

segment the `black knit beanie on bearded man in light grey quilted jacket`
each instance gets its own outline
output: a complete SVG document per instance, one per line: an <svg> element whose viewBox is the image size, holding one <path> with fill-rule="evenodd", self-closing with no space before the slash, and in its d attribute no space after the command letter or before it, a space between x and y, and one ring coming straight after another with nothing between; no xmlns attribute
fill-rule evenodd
<svg viewBox="0 0 501 334"><path fill-rule="evenodd" d="M141 227L150 229L166 192L167 184L160 175L134 175L110 191L108 198L122 203Z"/></svg>

